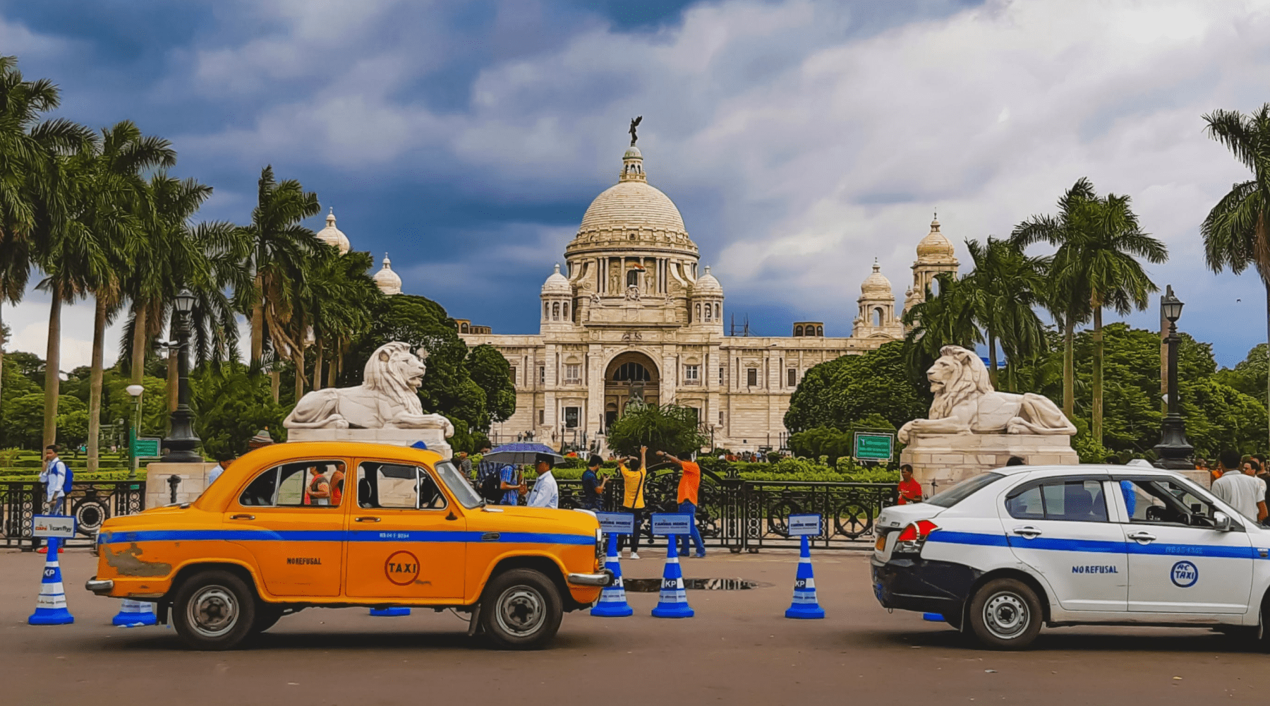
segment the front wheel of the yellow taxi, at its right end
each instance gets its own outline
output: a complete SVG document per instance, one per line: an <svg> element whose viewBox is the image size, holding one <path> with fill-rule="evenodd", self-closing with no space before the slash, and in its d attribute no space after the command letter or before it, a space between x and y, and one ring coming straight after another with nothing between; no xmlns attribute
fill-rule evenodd
<svg viewBox="0 0 1270 706"><path fill-rule="evenodd" d="M564 608L555 582L533 569L494 576L481 596L480 621L493 646L537 650L560 630Z"/></svg>

